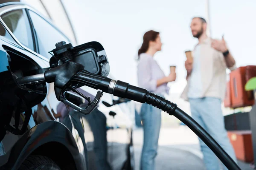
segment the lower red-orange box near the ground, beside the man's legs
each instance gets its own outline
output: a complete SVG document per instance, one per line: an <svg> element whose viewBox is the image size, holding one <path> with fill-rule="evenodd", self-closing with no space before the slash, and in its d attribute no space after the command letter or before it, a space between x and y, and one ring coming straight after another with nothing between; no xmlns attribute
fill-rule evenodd
<svg viewBox="0 0 256 170"><path fill-rule="evenodd" d="M228 131L228 137L236 153L236 158L244 162L252 162L253 142L251 130Z"/></svg>

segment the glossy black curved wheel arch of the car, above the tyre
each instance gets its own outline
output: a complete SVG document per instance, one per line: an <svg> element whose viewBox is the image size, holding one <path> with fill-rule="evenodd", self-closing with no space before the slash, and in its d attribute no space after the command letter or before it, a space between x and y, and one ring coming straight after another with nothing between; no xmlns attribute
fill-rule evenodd
<svg viewBox="0 0 256 170"><path fill-rule="evenodd" d="M6 141L9 140L6 139ZM6 153L5 156L8 157L8 159L5 158L5 160L8 161L4 167L6 169L18 169L27 156L48 142L56 142L59 145L64 145L64 147L69 150L70 154L73 155L73 158L75 158L74 161L77 170L86 169L84 156L80 154L72 133L67 127L56 121L43 122L23 134L8 153Z"/></svg>

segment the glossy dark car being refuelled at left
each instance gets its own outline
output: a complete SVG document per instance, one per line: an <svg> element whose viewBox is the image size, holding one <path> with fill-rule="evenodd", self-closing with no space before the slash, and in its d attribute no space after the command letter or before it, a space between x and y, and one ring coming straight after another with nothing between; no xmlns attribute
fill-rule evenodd
<svg viewBox="0 0 256 170"><path fill-rule="evenodd" d="M76 46L28 4L0 4L0 169L134 169L134 102L104 94L83 115L58 101L54 83L16 82L48 68L61 41Z"/></svg>

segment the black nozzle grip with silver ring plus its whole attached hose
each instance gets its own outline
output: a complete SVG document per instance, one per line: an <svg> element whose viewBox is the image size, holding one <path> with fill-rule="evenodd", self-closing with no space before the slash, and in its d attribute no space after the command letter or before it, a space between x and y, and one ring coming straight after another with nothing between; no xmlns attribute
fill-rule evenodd
<svg viewBox="0 0 256 170"><path fill-rule="evenodd" d="M139 88L133 85L129 85L126 82L116 81L111 87L112 79L107 77L90 74L86 71L80 71L77 73L73 80L75 82L82 83L91 88L101 89L106 93L113 94L114 96L131 99L141 103L148 103L154 107L157 107L163 111L166 111L170 115L177 117L187 125L205 144L215 153L215 155L222 161L222 163L229 170L241 170L235 161L222 149L222 147L207 133L192 117L177 108L177 105L164 99L161 96L148 92L146 89Z"/></svg>

